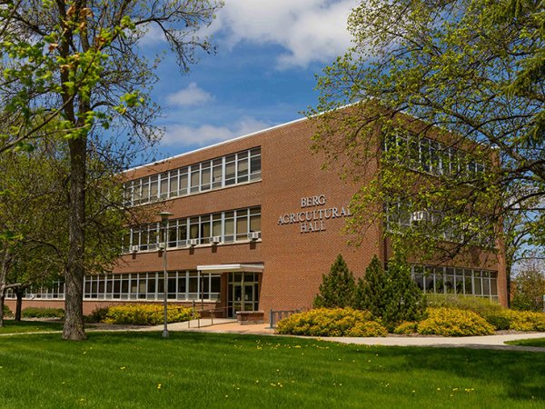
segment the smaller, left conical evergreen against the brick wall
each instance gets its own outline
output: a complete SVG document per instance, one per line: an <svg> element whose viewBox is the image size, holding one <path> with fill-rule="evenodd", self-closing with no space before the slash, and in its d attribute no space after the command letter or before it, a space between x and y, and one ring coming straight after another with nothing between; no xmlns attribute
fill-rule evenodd
<svg viewBox="0 0 545 409"><path fill-rule="evenodd" d="M355 290L354 275L337 255L329 274L322 275L320 293L314 298L314 308L343 308L352 305Z"/></svg>

